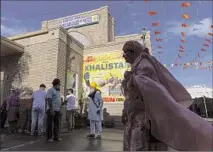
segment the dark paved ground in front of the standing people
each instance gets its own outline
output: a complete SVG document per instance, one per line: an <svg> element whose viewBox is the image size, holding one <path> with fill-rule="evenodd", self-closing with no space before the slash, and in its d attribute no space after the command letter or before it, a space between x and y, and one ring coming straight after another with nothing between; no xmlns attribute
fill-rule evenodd
<svg viewBox="0 0 213 152"><path fill-rule="evenodd" d="M123 131L104 129L102 139L88 139L87 129L62 133L60 142L47 143L45 137L16 134L2 138L1 151L122 151Z"/></svg>

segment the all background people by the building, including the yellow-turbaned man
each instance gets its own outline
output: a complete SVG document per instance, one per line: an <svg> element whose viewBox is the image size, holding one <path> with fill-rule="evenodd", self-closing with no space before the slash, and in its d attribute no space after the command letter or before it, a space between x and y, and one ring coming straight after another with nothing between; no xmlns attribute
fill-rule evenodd
<svg viewBox="0 0 213 152"><path fill-rule="evenodd" d="M32 94L31 102L26 103L25 123L22 132L29 132L31 136L41 136L44 133L44 118L46 114L46 136L47 141L60 141L60 107L66 104L66 121L68 132L73 132L75 128L76 97L73 89L67 90L64 101L60 96L60 80L54 79L52 88L45 91L46 86L41 84L39 89ZM11 95L7 97L1 107L1 128L4 128L6 119L9 123L9 133L18 132L18 120L20 118L19 90L12 88ZM88 138L95 137L97 126L97 138L101 139L103 121L103 99L101 91L97 88L97 83L90 84L88 119L90 120L90 134Z"/></svg>

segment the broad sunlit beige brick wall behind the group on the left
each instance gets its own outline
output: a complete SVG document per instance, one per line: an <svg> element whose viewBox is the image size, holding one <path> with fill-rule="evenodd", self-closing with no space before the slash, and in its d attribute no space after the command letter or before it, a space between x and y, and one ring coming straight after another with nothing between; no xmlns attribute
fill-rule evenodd
<svg viewBox="0 0 213 152"><path fill-rule="evenodd" d="M25 63L27 71L22 77L21 87L36 90L41 83L44 83L50 88L52 80L57 76L58 30L20 37L14 41L24 46L20 64Z"/></svg>

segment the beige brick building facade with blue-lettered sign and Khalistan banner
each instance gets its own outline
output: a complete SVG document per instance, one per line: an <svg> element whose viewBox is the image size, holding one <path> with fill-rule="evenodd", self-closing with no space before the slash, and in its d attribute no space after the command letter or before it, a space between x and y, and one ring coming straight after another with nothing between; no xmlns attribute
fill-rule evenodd
<svg viewBox="0 0 213 152"><path fill-rule="evenodd" d="M29 98L30 92L41 83L50 88L52 80L57 77L61 79L62 96L65 96L67 88L74 88L80 98L86 96L85 81L89 79L97 81L101 87L109 113L121 115L123 98L119 82L128 69L122 59L122 47L128 40L143 43L141 37L142 33L115 36L115 20L107 6L43 21L38 31L7 38L22 49L16 51L18 55L5 53L1 56L4 97L13 86L21 88L23 98ZM6 38L1 41L3 39ZM146 32L145 43L151 53L149 31ZM8 51L4 49L4 52ZM102 77L105 79L100 79ZM115 80L118 83L112 86Z"/></svg>

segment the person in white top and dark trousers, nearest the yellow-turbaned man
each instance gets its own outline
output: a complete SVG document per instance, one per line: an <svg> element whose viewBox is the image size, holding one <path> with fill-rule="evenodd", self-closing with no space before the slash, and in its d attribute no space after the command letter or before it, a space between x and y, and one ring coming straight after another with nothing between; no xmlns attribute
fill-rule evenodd
<svg viewBox="0 0 213 152"><path fill-rule="evenodd" d="M68 89L68 95L66 96L66 120L68 123L68 132L73 132L75 127L75 108L76 97L73 94L73 89Z"/></svg>

